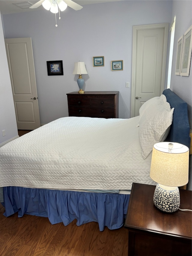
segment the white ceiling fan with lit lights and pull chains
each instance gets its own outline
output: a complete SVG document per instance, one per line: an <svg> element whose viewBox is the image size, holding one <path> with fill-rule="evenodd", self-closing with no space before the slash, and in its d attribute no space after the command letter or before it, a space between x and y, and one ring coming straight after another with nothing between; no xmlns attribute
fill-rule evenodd
<svg viewBox="0 0 192 256"><path fill-rule="evenodd" d="M81 10L83 7L81 5L76 4L72 0L40 0L36 4L32 5L29 8L38 8L40 5L43 5L43 7L46 10L50 10L52 13L55 13L55 21L57 27L57 20L56 20L56 13L59 12L59 20L61 19L60 17L60 11L64 11L67 8L67 5L74 9L75 11Z"/></svg>

